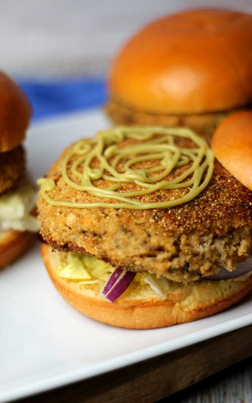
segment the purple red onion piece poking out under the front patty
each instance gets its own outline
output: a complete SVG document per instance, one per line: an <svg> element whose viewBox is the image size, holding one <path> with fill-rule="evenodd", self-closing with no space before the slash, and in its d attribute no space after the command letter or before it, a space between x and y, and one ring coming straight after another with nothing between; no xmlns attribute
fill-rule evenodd
<svg viewBox="0 0 252 403"><path fill-rule="evenodd" d="M119 298L119 296L125 291L127 290L127 288L129 287L129 285L132 283L132 281L134 280L134 277L136 276L136 273L134 272L129 272L129 271L125 271L125 270L121 270L120 275L118 276L118 273L116 273L116 278L115 276L113 276L113 274L118 271L121 270L120 268L115 269L115 271L111 274L111 276L109 277L107 284L105 285L102 293L104 294L105 298L107 298L110 302L114 302L117 298ZM112 277L113 276L113 277ZM112 280L110 282L110 279L112 277ZM112 284L112 286L109 288L108 291L105 291L105 288L107 287L108 283ZM105 291L105 292L104 292Z"/></svg>

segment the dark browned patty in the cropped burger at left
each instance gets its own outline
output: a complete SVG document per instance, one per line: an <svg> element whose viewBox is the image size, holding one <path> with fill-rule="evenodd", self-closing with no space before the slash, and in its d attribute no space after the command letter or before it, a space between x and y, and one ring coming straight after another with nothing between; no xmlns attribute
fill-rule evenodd
<svg viewBox="0 0 252 403"><path fill-rule="evenodd" d="M25 152L22 146L0 153L0 193L11 190L25 172Z"/></svg>

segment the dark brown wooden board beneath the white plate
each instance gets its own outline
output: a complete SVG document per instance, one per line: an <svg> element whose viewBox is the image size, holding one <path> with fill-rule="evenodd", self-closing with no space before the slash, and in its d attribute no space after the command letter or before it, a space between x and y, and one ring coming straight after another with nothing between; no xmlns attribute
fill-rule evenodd
<svg viewBox="0 0 252 403"><path fill-rule="evenodd" d="M20 403L152 403L252 356L252 325Z"/></svg>

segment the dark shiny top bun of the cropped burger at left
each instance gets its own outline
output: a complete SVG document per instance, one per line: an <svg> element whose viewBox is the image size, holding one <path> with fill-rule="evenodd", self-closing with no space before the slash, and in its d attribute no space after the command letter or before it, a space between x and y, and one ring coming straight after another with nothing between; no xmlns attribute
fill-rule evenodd
<svg viewBox="0 0 252 403"><path fill-rule="evenodd" d="M18 85L0 72L0 153L19 146L31 117L30 104Z"/></svg>

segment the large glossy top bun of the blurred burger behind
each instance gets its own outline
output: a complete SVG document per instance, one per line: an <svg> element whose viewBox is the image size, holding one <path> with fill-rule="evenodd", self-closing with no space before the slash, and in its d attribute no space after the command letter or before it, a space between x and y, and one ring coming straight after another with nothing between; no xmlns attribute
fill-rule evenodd
<svg viewBox="0 0 252 403"><path fill-rule="evenodd" d="M252 99L252 16L222 9L168 15L115 57L111 99L137 111L193 114Z"/></svg>

